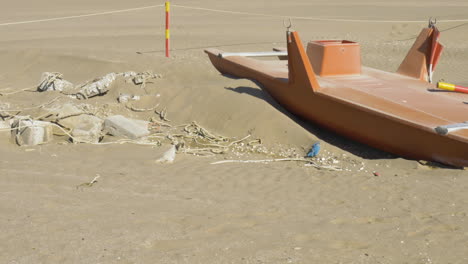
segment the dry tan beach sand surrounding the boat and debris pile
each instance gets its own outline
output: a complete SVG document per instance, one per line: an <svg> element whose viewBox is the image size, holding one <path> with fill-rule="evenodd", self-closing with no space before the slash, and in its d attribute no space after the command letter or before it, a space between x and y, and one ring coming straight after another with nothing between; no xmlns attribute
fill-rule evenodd
<svg viewBox="0 0 468 264"><path fill-rule="evenodd" d="M8 1L0 24L154 4ZM442 22L467 19L464 0L173 4L341 19L436 16L446 50L435 79L468 84L468 24ZM0 263L468 263L466 170L433 169L302 122L253 82L221 76L203 53L207 47L261 51L284 46L281 18L174 6L174 50L167 59L163 12L153 8L0 26L0 88L34 86L45 71L80 83L108 72L153 70L163 78L148 90L161 95L172 122L196 120L237 138L251 133L270 149L295 148L301 154L320 140L322 156L346 170L296 162L210 165L236 157L232 154L178 155L175 163L164 165L154 161L165 146L62 140L18 147L0 135ZM358 41L363 64L388 71L397 68L425 25L293 20L304 40ZM130 88L120 83L113 89ZM116 91L86 103L150 117L114 107ZM55 96L25 92L0 97L0 103L24 108ZM92 187L76 187L97 174Z"/></svg>

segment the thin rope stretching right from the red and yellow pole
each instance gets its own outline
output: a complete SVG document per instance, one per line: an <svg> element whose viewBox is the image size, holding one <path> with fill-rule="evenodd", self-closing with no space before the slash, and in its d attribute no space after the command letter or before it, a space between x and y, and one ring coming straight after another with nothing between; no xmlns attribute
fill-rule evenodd
<svg viewBox="0 0 468 264"><path fill-rule="evenodd" d="M427 23L427 20L372 20L372 19L341 19L341 18L283 16L283 15L248 13L248 12L240 12L240 11L219 10L219 9L193 7L193 6L182 6L182 5L172 5L172 6L180 7L180 8L186 8L186 9L202 10L202 11L226 13L226 14L235 14L235 15L250 15L250 16L263 16L263 17L275 17L275 18L294 18L294 19L316 20L316 21L359 22L359 23ZM437 20L437 22L468 22L468 19Z"/></svg>

